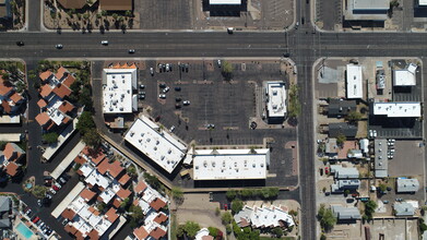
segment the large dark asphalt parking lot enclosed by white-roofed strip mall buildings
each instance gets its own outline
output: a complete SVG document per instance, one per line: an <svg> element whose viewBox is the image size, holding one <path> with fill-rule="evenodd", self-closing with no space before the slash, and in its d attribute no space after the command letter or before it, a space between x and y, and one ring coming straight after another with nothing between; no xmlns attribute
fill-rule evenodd
<svg viewBox="0 0 427 240"><path fill-rule="evenodd" d="M224 62L224 61L223 61ZM158 63L173 65L173 71L159 72ZM188 64L188 72L178 68L178 63ZM270 147L271 167L266 185L296 185L297 176L293 165L292 149L285 148L288 141L296 140L294 128L256 129L249 128L250 117L256 116L256 85L262 86L263 81L286 79L280 71L280 62L232 61L234 65L233 81L224 81L222 68L217 60L205 61L146 61L145 69L140 70L140 84L145 85L145 99L141 107L150 107L150 115L158 120L165 129L175 127L174 134L187 143L194 141L200 145L262 145L265 137L272 137ZM223 64L223 63L222 63ZM150 74L150 68L155 70ZM169 91L166 99L161 99L166 84ZM176 91L175 87L180 87ZM176 98L180 98L179 101ZM189 100L189 106L182 101ZM177 109L176 105L180 107ZM207 129L207 124L214 128ZM179 171L179 170L178 170ZM181 179L179 175L174 180L182 187L193 187L191 179ZM251 182L253 183L253 182ZM248 184L237 182L236 184ZM256 183L258 184L258 183Z"/></svg>

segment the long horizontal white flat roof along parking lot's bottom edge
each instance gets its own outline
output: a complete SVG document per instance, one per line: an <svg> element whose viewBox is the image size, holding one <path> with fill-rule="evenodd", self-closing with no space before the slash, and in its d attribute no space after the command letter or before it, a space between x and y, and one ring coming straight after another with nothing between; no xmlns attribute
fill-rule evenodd
<svg viewBox="0 0 427 240"><path fill-rule="evenodd" d="M194 180L265 179L270 149L209 149L193 154Z"/></svg>

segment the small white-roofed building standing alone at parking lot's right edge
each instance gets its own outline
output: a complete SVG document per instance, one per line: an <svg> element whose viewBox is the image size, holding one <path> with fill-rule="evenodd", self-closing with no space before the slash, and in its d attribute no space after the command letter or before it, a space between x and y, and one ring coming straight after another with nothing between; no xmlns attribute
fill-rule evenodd
<svg viewBox="0 0 427 240"><path fill-rule="evenodd" d="M284 118L286 116L286 89L283 82L266 83L269 118Z"/></svg>

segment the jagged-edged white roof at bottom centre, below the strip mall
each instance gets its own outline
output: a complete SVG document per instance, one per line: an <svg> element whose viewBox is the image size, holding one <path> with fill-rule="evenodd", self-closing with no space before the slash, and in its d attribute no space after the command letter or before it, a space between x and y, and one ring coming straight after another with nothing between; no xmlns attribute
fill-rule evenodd
<svg viewBox="0 0 427 240"><path fill-rule="evenodd" d="M287 213L287 207L284 206L248 206L234 215L234 219L239 227L252 228L275 228L275 227L292 227L295 225L293 217Z"/></svg>

